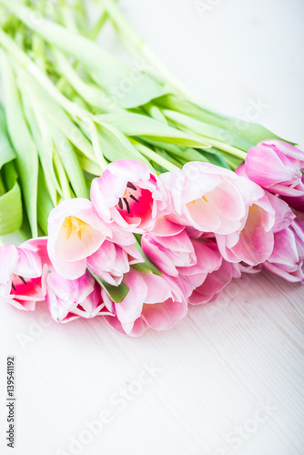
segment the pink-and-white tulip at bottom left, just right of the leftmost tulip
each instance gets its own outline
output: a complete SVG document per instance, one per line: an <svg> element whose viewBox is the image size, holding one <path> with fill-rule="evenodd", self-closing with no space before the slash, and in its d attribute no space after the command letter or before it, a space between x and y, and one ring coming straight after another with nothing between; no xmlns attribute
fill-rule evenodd
<svg viewBox="0 0 304 455"><path fill-rule="evenodd" d="M80 278L66 279L52 270L46 279L46 305L56 322L108 314L101 288L87 271Z"/></svg>

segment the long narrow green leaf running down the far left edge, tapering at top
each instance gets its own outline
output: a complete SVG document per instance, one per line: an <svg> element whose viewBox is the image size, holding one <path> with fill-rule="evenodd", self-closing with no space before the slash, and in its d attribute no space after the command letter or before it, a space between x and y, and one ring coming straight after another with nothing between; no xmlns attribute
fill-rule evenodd
<svg viewBox="0 0 304 455"><path fill-rule="evenodd" d="M7 129L15 148L16 166L21 181L25 207L32 236L37 237L37 180L38 157L35 143L29 133L20 104L20 96L15 86L15 75L10 61L0 50L2 76L5 95Z"/></svg>

